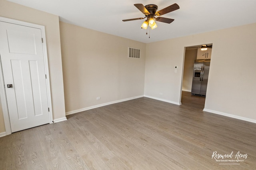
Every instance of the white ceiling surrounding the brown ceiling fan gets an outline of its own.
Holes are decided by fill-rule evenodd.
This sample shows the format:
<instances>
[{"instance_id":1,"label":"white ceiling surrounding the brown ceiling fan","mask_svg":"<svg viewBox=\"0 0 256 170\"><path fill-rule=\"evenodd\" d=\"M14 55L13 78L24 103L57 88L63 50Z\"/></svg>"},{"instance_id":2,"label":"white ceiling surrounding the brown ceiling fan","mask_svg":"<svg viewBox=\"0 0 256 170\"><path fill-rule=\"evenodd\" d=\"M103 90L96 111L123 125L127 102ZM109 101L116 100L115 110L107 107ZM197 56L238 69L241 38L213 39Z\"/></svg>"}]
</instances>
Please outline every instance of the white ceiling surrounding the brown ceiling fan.
<instances>
[{"instance_id":1,"label":"white ceiling surrounding the brown ceiling fan","mask_svg":"<svg viewBox=\"0 0 256 170\"><path fill-rule=\"evenodd\" d=\"M144 43L256 23L256 0L9 1L58 15L63 22ZM158 27L150 30L150 38L146 30L140 28L144 20L122 21L144 17L133 4L156 4L161 10L174 3L180 9L162 16L174 21L170 24L157 22Z\"/></svg>"}]
</instances>

